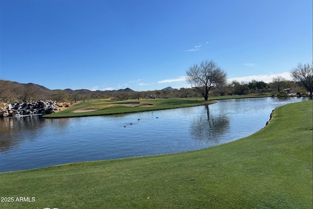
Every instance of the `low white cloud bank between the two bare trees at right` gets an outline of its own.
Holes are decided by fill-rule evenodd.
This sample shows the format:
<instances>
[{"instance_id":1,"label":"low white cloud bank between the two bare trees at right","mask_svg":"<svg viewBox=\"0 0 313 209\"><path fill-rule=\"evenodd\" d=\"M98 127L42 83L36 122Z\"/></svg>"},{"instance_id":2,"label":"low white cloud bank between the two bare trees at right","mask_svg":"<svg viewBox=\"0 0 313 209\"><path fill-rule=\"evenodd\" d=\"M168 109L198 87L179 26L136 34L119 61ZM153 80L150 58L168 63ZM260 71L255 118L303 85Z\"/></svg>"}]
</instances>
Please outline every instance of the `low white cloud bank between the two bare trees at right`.
<instances>
[{"instance_id":1,"label":"low white cloud bank between the two bare trees at right","mask_svg":"<svg viewBox=\"0 0 313 209\"><path fill-rule=\"evenodd\" d=\"M249 76L244 76L244 77L229 78L227 79L227 81L230 83L234 80L238 82L250 82L252 80L256 80L256 81L264 81L265 83L270 83L273 81L273 78L277 76L282 76L286 80L292 80L292 77L289 72L282 72L282 73L271 74L271 75L249 75Z\"/></svg>"}]
</instances>

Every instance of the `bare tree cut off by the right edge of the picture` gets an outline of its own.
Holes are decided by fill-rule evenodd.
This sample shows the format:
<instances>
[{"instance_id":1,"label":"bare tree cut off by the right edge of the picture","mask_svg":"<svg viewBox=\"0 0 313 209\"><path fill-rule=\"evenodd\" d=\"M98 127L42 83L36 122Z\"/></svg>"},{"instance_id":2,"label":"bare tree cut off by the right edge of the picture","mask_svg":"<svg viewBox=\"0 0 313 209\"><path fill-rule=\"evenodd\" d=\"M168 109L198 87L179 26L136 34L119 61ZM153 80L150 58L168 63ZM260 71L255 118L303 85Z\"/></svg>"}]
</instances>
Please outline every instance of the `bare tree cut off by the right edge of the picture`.
<instances>
[{"instance_id":1,"label":"bare tree cut off by the right edge of the picture","mask_svg":"<svg viewBox=\"0 0 313 209\"><path fill-rule=\"evenodd\" d=\"M297 82L300 86L304 87L308 92L310 92L310 96L312 96L313 92L313 63L298 64L296 68L291 70L291 76L293 80Z\"/></svg>"}]
</instances>

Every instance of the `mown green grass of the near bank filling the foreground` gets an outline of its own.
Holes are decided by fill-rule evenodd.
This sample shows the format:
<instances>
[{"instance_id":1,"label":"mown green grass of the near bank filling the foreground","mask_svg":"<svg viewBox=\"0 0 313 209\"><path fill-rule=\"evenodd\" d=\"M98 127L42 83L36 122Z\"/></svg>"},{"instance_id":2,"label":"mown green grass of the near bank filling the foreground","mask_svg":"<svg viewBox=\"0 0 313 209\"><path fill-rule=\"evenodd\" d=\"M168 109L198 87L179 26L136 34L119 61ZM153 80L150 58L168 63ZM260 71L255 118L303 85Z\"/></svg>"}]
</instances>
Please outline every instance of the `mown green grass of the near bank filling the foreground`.
<instances>
[{"instance_id":1,"label":"mown green grass of the near bank filling the foreground","mask_svg":"<svg viewBox=\"0 0 313 209\"><path fill-rule=\"evenodd\" d=\"M255 134L202 150L1 173L1 197L36 201L0 208L312 209L312 106L279 107Z\"/></svg>"}]
</instances>

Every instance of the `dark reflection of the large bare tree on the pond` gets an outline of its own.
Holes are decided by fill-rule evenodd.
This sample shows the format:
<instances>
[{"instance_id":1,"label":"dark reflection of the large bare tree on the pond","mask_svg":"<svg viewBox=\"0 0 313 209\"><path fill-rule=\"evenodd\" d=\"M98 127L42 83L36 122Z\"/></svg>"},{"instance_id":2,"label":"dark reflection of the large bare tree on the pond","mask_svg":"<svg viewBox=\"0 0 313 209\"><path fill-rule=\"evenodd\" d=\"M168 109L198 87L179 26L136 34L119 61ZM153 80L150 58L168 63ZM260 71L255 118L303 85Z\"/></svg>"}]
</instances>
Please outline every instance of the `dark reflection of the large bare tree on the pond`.
<instances>
[{"instance_id":1,"label":"dark reflection of the large bare tree on the pond","mask_svg":"<svg viewBox=\"0 0 313 209\"><path fill-rule=\"evenodd\" d=\"M205 114L201 114L191 123L190 133L196 140L216 141L229 128L227 115L210 116L209 105L203 106Z\"/></svg>"}]
</instances>

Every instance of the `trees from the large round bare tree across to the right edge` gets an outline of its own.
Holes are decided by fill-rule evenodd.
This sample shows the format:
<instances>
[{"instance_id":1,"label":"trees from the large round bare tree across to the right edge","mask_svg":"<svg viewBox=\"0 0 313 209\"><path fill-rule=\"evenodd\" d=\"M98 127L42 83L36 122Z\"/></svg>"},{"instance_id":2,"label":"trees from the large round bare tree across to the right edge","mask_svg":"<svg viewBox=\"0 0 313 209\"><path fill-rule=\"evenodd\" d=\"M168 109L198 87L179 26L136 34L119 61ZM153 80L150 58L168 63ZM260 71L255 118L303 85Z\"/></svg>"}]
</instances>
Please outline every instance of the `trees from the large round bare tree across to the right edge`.
<instances>
[{"instance_id":1,"label":"trees from the large round bare tree across to the right edge","mask_svg":"<svg viewBox=\"0 0 313 209\"><path fill-rule=\"evenodd\" d=\"M226 72L212 60L194 64L186 71L186 75L187 82L201 93L204 100L208 99L210 90L216 95L272 93L278 96L287 95L290 89L299 95L309 92L310 96L313 91L313 64L298 64L293 68L291 70L293 81L286 81L283 77L277 76L269 84L256 80L249 83L232 81L231 84L227 84Z\"/></svg>"}]
</instances>

